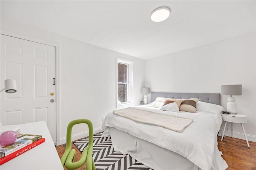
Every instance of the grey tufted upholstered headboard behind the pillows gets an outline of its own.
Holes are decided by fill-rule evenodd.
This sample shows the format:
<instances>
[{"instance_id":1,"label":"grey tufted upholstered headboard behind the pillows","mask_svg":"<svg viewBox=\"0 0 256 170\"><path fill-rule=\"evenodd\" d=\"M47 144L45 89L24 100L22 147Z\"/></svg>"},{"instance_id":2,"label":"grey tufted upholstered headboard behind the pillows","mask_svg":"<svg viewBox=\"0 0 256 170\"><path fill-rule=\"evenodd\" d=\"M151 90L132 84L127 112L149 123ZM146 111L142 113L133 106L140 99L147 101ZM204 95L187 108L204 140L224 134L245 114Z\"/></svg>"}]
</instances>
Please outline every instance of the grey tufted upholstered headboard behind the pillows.
<instances>
[{"instance_id":1,"label":"grey tufted upholstered headboard behind the pillows","mask_svg":"<svg viewBox=\"0 0 256 170\"><path fill-rule=\"evenodd\" d=\"M151 102L156 100L156 97L168 97L172 99L190 99L198 98L200 101L206 103L213 103L220 105L220 93L165 93L165 92L151 92Z\"/></svg>"}]
</instances>

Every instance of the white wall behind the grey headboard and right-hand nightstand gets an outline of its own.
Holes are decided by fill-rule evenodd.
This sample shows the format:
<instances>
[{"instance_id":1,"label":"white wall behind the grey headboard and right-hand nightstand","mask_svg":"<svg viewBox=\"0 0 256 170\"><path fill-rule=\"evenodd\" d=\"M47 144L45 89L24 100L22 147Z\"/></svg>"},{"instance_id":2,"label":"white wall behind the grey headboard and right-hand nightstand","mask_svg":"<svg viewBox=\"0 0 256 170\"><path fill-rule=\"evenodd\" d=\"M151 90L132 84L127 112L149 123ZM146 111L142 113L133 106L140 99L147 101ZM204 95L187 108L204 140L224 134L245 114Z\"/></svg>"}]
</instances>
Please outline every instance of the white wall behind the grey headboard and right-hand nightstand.
<instances>
[{"instance_id":1,"label":"white wall behind the grey headboard and right-hand nightstand","mask_svg":"<svg viewBox=\"0 0 256 170\"><path fill-rule=\"evenodd\" d=\"M171 47L170 47L171 48ZM155 92L220 93L220 85L242 84L238 113L247 115L248 140L256 141L256 39L252 34L145 61L145 86ZM221 97L226 109L228 96ZM230 135L231 123L228 123ZM222 125L223 129L223 125ZM244 139L239 124L234 137Z\"/></svg>"}]
</instances>

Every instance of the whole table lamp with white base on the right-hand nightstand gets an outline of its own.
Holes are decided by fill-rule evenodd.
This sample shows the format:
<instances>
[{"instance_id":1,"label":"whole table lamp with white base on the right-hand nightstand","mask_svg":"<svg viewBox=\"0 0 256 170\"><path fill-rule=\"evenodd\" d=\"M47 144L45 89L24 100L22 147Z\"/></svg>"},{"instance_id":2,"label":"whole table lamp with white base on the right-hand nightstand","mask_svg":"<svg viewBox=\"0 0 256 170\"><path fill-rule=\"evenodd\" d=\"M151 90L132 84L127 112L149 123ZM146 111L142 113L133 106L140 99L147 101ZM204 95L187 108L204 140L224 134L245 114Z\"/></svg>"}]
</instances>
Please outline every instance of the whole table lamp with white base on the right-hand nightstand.
<instances>
[{"instance_id":1,"label":"whole table lamp with white base on the right-hand nightstand","mask_svg":"<svg viewBox=\"0 0 256 170\"><path fill-rule=\"evenodd\" d=\"M236 99L233 95L242 95L242 85L221 85L221 95L230 95L228 97L227 111L236 114Z\"/></svg>"}]
</instances>

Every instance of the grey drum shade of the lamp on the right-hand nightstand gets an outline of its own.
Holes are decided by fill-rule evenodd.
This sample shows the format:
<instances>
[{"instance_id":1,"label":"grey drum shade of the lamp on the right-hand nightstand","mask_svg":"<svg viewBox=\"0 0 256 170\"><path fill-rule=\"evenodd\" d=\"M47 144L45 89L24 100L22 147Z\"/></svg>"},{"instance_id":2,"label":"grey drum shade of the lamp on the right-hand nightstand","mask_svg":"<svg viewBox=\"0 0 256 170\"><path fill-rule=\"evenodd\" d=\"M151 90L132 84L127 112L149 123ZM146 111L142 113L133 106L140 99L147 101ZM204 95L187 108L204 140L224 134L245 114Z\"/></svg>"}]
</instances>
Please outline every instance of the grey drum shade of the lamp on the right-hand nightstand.
<instances>
[{"instance_id":1,"label":"grey drum shade of the lamp on the right-hand nightstand","mask_svg":"<svg viewBox=\"0 0 256 170\"><path fill-rule=\"evenodd\" d=\"M221 85L220 91L222 95L242 95L242 85Z\"/></svg>"}]
</instances>

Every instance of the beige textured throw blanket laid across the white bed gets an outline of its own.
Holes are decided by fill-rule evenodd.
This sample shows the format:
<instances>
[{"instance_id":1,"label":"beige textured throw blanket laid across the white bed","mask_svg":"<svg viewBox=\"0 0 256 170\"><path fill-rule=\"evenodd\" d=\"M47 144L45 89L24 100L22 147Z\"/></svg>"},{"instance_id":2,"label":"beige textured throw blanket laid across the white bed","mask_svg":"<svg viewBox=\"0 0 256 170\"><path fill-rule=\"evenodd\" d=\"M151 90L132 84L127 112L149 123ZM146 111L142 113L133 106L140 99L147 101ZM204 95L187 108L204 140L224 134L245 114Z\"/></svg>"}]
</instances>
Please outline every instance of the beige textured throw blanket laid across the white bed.
<instances>
[{"instance_id":1,"label":"beige textured throw blanket laid across the white bed","mask_svg":"<svg viewBox=\"0 0 256 170\"><path fill-rule=\"evenodd\" d=\"M165 115L132 107L115 110L113 113L114 115L122 116L136 122L156 125L180 133L193 121L191 118Z\"/></svg>"}]
</instances>

